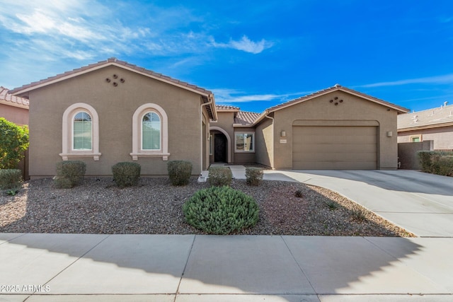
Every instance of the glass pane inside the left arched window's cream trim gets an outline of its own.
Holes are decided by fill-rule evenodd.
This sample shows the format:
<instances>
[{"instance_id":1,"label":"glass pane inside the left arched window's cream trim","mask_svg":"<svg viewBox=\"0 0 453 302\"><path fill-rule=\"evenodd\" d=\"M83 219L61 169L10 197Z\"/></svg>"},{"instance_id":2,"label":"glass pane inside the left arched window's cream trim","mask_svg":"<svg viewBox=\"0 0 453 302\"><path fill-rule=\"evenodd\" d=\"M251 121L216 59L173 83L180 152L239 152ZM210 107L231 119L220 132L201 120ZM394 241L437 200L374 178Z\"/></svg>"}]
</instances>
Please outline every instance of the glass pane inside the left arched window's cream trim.
<instances>
[{"instance_id":1,"label":"glass pane inside the left arched window's cream trim","mask_svg":"<svg viewBox=\"0 0 453 302\"><path fill-rule=\"evenodd\" d=\"M74 115L72 149L91 150L92 133L91 116L87 112L78 112Z\"/></svg>"}]
</instances>

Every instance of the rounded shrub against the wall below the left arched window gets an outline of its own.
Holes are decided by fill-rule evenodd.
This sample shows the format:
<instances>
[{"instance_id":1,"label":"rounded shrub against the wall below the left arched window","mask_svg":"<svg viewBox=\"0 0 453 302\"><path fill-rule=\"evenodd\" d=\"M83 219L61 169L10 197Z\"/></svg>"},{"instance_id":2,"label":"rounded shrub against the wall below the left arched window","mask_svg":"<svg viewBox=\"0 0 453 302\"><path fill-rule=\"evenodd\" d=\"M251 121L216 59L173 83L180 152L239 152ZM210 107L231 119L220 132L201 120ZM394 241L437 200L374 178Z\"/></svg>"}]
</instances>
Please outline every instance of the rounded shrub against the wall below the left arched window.
<instances>
[{"instance_id":1,"label":"rounded shrub against the wall below the left arched window","mask_svg":"<svg viewBox=\"0 0 453 302\"><path fill-rule=\"evenodd\" d=\"M86 163L83 161L60 161L57 163L57 176L54 183L59 188L70 188L84 180Z\"/></svg>"}]
</instances>

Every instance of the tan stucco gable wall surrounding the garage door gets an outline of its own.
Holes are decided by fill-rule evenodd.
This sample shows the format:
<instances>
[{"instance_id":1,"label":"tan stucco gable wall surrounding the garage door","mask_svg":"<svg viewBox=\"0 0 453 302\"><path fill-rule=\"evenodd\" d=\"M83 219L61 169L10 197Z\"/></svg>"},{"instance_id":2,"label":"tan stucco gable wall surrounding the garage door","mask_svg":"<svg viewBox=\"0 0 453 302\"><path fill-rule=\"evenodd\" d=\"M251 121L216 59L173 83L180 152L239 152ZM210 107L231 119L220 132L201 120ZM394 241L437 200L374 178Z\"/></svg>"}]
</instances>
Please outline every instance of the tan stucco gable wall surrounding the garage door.
<instances>
[{"instance_id":1,"label":"tan stucco gable wall surrounding the garage door","mask_svg":"<svg viewBox=\"0 0 453 302\"><path fill-rule=\"evenodd\" d=\"M343 103L334 105L329 100L338 97ZM380 169L397 168L397 143L396 143L396 116L397 112L384 105L364 100L358 96L343 91L333 91L311 100L289 106L274 112L274 163L273 168L292 168L292 126L301 121L330 121L329 125L344 125L345 121L374 121L379 124L378 128L378 150L377 167ZM266 122L266 121L263 121ZM286 144L280 144L280 133L286 132ZM386 133L392 132L392 137ZM264 137L265 144L272 144L271 138ZM261 159L260 159L261 161Z\"/></svg>"}]
</instances>

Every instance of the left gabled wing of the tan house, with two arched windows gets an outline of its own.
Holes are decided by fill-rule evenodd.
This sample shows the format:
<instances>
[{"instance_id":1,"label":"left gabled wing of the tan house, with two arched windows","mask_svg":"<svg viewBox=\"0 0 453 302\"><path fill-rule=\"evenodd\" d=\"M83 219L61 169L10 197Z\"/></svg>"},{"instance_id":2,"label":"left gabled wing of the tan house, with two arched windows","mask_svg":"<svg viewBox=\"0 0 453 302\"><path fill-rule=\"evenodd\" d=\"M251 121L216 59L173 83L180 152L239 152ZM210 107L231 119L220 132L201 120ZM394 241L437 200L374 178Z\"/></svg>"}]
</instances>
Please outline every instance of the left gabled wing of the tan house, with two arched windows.
<instances>
[{"instance_id":1,"label":"left gabled wing of the tan house, with two arched windows","mask_svg":"<svg viewBox=\"0 0 453 302\"><path fill-rule=\"evenodd\" d=\"M142 175L166 175L167 161L209 165L214 95L110 58L10 91L30 100L31 178L55 175L59 161L86 162L86 175L111 175L137 161Z\"/></svg>"}]
</instances>

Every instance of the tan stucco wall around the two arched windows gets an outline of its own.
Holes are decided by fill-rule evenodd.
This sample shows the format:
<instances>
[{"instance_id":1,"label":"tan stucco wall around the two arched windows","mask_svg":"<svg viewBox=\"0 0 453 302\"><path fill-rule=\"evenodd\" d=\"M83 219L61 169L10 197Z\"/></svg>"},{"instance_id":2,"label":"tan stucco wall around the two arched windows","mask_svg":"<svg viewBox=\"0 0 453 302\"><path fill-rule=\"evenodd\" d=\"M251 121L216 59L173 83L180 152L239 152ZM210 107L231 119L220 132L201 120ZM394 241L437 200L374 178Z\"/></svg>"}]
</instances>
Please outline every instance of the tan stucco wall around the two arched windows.
<instances>
[{"instance_id":1,"label":"tan stucco wall around the two arched windows","mask_svg":"<svg viewBox=\"0 0 453 302\"><path fill-rule=\"evenodd\" d=\"M115 87L107 83L117 74ZM111 175L111 166L132 161L132 115L140 105L154 103L168 115L168 161L193 163L200 173L200 95L132 71L108 66L30 92L30 176L55 175L62 161L62 115L74 103L87 103L99 115L99 161L69 158L87 163L86 175ZM142 175L166 175L167 161L139 157Z\"/></svg>"}]
</instances>

